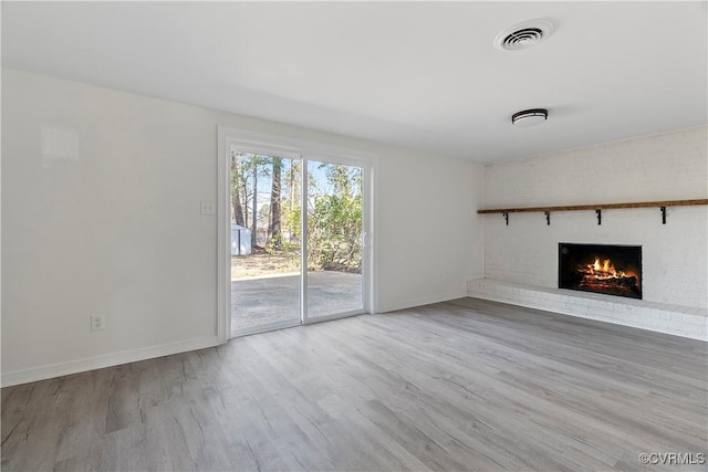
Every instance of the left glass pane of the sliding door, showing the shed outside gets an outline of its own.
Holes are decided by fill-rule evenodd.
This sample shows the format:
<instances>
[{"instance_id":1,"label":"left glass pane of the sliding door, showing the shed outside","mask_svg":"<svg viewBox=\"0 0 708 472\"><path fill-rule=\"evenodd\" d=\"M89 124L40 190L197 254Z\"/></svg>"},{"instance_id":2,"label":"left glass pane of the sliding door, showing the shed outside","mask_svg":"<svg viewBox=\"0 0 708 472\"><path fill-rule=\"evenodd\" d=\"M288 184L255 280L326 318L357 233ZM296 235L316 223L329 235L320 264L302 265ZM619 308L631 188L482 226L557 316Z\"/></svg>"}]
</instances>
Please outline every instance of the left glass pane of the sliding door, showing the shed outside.
<instances>
[{"instance_id":1,"label":"left glass pane of the sliding door, showing the shed outside","mask_svg":"<svg viewBox=\"0 0 708 472\"><path fill-rule=\"evenodd\" d=\"M231 150L232 336L301 323L301 169Z\"/></svg>"}]
</instances>

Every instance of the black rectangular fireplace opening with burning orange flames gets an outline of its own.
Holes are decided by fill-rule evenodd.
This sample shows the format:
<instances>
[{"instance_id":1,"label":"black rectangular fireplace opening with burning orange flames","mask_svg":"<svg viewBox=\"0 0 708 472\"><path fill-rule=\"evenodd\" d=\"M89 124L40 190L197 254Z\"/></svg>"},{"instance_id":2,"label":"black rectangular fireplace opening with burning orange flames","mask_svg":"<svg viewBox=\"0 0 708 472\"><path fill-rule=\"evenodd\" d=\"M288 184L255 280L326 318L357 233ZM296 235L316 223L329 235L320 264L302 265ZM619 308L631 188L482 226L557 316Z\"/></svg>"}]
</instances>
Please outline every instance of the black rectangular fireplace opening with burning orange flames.
<instances>
[{"instance_id":1,"label":"black rectangular fireplace opening with burning orange flames","mask_svg":"<svg viewBox=\"0 0 708 472\"><path fill-rule=\"evenodd\" d=\"M558 286L642 298L642 247L561 242Z\"/></svg>"}]
</instances>

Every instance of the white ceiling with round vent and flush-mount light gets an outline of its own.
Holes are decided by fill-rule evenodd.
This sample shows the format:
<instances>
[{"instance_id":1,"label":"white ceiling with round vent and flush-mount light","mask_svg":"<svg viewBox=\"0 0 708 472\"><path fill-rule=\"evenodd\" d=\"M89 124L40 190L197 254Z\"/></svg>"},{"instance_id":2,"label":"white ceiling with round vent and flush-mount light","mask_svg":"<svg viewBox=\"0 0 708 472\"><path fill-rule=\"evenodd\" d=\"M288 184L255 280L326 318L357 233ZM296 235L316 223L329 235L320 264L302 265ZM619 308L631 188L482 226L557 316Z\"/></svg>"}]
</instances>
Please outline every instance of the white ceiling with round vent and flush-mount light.
<instances>
[{"instance_id":1,"label":"white ceiling with round vent and flush-mount light","mask_svg":"<svg viewBox=\"0 0 708 472\"><path fill-rule=\"evenodd\" d=\"M2 64L490 162L706 125L707 4L2 1Z\"/></svg>"}]
</instances>

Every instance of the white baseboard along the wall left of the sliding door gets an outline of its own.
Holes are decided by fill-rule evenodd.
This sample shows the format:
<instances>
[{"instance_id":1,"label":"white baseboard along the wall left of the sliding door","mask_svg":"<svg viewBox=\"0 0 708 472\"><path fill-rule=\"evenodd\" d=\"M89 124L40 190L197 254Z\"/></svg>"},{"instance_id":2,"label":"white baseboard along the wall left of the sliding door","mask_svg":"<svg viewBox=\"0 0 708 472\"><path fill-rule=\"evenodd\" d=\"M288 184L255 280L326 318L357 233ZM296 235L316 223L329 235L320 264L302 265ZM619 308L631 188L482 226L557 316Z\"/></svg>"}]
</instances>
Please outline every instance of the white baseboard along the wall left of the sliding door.
<instances>
[{"instance_id":1,"label":"white baseboard along the wall left of the sliding door","mask_svg":"<svg viewBox=\"0 0 708 472\"><path fill-rule=\"evenodd\" d=\"M204 349L206 347L218 346L219 344L220 343L217 336L212 336L201 339L190 339L123 353L108 354L105 356L90 357L86 359L71 360L69 363L53 364L25 370L2 373L0 386L10 387L13 385L27 384L30 381L45 380L49 378L61 377L70 374L84 373L87 370L117 366L121 364L135 363L138 360L146 360L155 357L169 356L171 354L186 353L188 350Z\"/></svg>"}]
</instances>

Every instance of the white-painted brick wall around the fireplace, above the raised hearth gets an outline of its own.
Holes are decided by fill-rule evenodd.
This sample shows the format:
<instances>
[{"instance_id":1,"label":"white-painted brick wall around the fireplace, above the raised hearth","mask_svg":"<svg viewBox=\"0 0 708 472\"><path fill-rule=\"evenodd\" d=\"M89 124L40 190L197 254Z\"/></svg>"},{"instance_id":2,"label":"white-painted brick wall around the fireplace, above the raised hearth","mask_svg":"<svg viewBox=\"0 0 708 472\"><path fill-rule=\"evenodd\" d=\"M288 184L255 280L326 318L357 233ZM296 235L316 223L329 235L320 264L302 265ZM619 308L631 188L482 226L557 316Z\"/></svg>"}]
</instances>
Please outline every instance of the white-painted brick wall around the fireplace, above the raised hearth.
<instances>
[{"instance_id":1,"label":"white-painted brick wall around the fireplace, above the raised hearth","mask_svg":"<svg viewBox=\"0 0 708 472\"><path fill-rule=\"evenodd\" d=\"M485 170L485 207L621 203L708 198L707 128L611 143ZM708 208L658 208L488 214L485 276L558 286L558 243L643 245L644 300L705 308L708 304Z\"/></svg>"}]
</instances>

